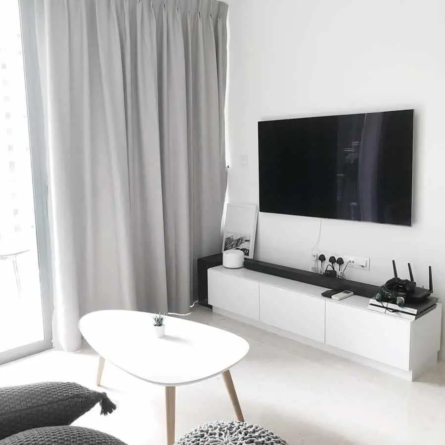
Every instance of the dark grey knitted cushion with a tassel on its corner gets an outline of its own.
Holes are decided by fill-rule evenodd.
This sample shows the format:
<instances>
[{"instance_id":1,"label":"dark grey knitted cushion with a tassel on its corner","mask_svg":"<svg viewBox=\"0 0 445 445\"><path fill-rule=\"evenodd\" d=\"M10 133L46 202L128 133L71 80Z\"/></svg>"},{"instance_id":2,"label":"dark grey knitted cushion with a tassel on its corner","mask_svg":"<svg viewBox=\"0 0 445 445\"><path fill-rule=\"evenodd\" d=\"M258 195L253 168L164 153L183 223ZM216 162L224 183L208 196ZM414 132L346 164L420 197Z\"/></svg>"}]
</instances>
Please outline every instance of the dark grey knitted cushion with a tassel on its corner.
<instances>
[{"instance_id":1,"label":"dark grey knitted cushion with a tassel on its corner","mask_svg":"<svg viewBox=\"0 0 445 445\"><path fill-rule=\"evenodd\" d=\"M105 393L77 383L37 383L0 388L0 439L44 426L69 425L100 402L102 414L116 405Z\"/></svg>"}]
</instances>

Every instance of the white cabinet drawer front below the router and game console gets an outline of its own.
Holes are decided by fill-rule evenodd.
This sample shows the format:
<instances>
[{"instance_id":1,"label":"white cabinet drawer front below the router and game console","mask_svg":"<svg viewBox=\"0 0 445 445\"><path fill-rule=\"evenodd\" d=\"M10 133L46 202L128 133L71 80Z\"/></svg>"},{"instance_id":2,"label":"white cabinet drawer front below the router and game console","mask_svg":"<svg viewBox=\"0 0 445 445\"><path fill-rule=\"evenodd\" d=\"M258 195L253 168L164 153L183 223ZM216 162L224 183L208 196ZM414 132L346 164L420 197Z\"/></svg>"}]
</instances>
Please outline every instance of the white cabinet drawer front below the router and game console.
<instances>
[{"instance_id":1,"label":"white cabinet drawer front below the router and game console","mask_svg":"<svg viewBox=\"0 0 445 445\"><path fill-rule=\"evenodd\" d=\"M408 320L326 302L327 345L403 370L409 370L410 325Z\"/></svg>"}]
</instances>

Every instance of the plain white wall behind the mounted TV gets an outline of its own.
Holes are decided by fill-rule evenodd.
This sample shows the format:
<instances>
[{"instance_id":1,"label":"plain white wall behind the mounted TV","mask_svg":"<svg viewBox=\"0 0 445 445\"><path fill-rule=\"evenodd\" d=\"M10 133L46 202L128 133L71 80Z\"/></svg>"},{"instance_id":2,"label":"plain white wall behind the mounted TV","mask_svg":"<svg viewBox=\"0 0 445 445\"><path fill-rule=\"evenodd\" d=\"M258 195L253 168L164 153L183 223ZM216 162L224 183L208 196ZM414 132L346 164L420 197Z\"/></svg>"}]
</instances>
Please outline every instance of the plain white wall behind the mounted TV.
<instances>
[{"instance_id":1,"label":"plain white wall behind the mounted TV","mask_svg":"<svg viewBox=\"0 0 445 445\"><path fill-rule=\"evenodd\" d=\"M323 220L320 247L369 256L370 271L347 275L373 284L393 258L421 285L432 265L445 302L445 2L228 3L229 199L258 203L259 120L414 108L413 226ZM309 269L319 221L260 214L255 257Z\"/></svg>"}]
</instances>

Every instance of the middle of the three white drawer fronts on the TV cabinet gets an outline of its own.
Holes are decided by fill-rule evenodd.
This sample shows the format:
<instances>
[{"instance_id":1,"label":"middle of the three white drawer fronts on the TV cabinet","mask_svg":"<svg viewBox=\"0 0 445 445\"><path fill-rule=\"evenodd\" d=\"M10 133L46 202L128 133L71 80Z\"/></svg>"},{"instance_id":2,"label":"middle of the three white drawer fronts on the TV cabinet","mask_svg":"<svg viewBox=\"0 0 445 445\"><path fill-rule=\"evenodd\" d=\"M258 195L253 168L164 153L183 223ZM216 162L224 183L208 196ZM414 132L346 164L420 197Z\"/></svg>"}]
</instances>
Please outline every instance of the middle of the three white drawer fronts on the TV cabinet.
<instances>
[{"instance_id":1,"label":"middle of the three white drawer fronts on the TV cabinet","mask_svg":"<svg viewBox=\"0 0 445 445\"><path fill-rule=\"evenodd\" d=\"M324 343L324 312L324 300L260 284L263 323Z\"/></svg>"}]
</instances>

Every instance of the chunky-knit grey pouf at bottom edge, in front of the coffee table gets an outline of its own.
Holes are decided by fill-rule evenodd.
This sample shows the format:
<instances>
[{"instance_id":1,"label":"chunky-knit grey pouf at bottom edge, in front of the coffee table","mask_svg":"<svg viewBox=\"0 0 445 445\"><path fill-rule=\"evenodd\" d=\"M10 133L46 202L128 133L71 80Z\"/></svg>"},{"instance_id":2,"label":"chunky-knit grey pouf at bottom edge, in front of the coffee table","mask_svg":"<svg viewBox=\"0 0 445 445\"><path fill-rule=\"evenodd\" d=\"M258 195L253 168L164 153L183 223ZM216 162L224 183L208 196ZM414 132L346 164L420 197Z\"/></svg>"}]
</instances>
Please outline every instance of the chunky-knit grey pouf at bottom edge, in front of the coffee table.
<instances>
[{"instance_id":1,"label":"chunky-knit grey pouf at bottom edge, in front of the coffee table","mask_svg":"<svg viewBox=\"0 0 445 445\"><path fill-rule=\"evenodd\" d=\"M183 436L176 445L287 445L258 425L231 420L202 425Z\"/></svg>"}]
</instances>

